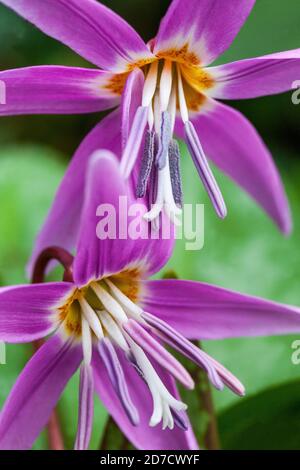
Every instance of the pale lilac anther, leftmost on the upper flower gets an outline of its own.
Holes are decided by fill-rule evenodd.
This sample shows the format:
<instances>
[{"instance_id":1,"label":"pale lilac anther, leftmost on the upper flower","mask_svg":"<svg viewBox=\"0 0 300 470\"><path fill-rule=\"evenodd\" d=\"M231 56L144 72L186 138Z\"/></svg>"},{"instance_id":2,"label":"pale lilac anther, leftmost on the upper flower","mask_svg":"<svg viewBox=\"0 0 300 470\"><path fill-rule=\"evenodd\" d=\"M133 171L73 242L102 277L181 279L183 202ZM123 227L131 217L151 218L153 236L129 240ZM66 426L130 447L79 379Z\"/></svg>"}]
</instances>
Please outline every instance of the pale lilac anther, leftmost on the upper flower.
<instances>
[{"instance_id":1,"label":"pale lilac anther, leftmost on the upper flower","mask_svg":"<svg viewBox=\"0 0 300 470\"><path fill-rule=\"evenodd\" d=\"M128 178L137 160L148 121L148 107L140 106L134 116L130 134L123 151L120 170Z\"/></svg>"}]
</instances>

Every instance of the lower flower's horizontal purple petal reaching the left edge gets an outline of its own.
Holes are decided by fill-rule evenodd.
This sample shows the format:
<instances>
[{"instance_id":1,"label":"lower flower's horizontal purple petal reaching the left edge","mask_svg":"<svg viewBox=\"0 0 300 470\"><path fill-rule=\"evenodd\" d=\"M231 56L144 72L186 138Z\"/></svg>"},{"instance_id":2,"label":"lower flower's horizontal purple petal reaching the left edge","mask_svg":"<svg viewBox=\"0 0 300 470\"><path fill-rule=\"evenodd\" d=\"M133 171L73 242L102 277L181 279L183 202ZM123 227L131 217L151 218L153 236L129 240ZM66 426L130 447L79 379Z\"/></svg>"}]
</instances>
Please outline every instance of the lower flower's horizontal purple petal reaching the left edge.
<instances>
[{"instance_id":1,"label":"lower flower's horizontal purple petal reaching the left edge","mask_svg":"<svg viewBox=\"0 0 300 470\"><path fill-rule=\"evenodd\" d=\"M57 325L56 306L72 289L67 282L0 289L0 339L26 343L47 336Z\"/></svg>"}]
</instances>

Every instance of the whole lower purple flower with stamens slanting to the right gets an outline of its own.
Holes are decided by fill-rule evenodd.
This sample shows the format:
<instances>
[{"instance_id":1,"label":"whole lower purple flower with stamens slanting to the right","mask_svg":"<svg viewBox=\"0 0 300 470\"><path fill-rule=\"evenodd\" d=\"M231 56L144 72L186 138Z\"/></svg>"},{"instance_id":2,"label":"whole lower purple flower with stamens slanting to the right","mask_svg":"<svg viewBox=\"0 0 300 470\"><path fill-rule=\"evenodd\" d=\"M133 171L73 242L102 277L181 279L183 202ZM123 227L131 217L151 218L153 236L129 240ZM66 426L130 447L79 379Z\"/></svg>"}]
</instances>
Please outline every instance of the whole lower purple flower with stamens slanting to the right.
<instances>
[{"instance_id":1,"label":"whole lower purple flower with stamens slanting to the right","mask_svg":"<svg viewBox=\"0 0 300 470\"><path fill-rule=\"evenodd\" d=\"M189 340L299 332L300 310L200 282L149 280L172 241L96 236L101 202L118 210L121 196L134 199L112 153L94 154L85 188L71 278L68 271L64 282L0 289L1 340L50 335L1 411L0 448L30 448L80 368L76 449L88 447L94 390L137 448L194 449L174 379L188 389L193 380L164 345L203 368L217 389L243 395L240 382ZM127 217L117 213L119 223ZM140 223L149 229L142 216Z\"/></svg>"}]
</instances>

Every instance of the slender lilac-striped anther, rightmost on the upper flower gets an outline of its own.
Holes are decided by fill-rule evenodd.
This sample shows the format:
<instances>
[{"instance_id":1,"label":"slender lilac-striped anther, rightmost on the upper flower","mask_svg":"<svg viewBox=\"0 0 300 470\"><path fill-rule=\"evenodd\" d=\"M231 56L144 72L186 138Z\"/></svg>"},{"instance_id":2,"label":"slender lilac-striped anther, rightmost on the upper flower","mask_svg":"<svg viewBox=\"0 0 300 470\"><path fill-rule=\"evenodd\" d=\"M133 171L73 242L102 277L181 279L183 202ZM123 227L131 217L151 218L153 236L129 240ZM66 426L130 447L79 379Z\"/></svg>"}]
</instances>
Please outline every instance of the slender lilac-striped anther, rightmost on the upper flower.
<instances>
[{"instance_id":1,"label":"slender lilac-striped anther, rightmost on the upper flower","mask_svg":"<svg viewBox=\"0 0 300 470\"><path fill-rule=\"evenodd\" d=\"M222 219L226 217L227 209L221 194L220 188L215 180L215 177L209 167L208 161L204 154L202 145L195 131L193 124L190 121L185 122L185 137L186 142L193 158L196 169L203 182L203 185L210 197L211 202L217 212L218 216Z\"/></svg>"}]
</instances>

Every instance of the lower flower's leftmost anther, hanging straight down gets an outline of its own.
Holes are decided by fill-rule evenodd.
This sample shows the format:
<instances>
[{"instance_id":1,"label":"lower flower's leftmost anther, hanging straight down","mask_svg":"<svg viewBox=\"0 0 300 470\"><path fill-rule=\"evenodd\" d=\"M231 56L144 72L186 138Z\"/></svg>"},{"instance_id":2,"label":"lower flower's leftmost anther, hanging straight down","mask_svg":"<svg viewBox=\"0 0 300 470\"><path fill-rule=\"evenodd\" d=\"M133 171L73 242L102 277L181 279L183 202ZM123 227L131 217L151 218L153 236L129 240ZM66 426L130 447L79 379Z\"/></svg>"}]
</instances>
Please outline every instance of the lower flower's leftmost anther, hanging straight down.
<instances>
[{"instance_id":1,"label":"lower flower's leftmost anther, hanging straight down","mask_svg":"<svg viewBox=\"0 0 300 470\"><path fill-rule=\"evenodd\" d=\"M90 366L82 365L80 368L78 430L75 450L86 450L90 442L94 415L93 394L92 369Z\"/></svg>"}]
</instances>

